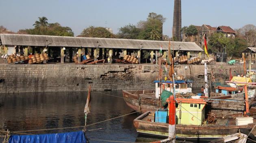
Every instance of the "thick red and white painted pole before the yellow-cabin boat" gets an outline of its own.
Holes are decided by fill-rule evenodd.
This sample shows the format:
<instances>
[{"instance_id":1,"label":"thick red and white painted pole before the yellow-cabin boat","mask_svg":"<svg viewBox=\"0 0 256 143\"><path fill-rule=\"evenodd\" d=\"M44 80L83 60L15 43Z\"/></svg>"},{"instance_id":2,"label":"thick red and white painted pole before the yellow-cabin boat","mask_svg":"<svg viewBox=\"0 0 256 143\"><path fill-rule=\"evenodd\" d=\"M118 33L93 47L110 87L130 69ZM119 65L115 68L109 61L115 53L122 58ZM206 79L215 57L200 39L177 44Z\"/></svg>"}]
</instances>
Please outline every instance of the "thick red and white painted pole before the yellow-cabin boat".
<instances>
[{"instance_id":1,"label":"thick red and white painted pole before the yellow-cabin boat","mask_svg":"<svg viewBox=\"0 0 256 143\"><path fill-rule=\"evenodd\" d=\"M174 96L169 97L169 138L172 139L172 143L175 143L175 100Z\"/></svg>"}]
</instances>

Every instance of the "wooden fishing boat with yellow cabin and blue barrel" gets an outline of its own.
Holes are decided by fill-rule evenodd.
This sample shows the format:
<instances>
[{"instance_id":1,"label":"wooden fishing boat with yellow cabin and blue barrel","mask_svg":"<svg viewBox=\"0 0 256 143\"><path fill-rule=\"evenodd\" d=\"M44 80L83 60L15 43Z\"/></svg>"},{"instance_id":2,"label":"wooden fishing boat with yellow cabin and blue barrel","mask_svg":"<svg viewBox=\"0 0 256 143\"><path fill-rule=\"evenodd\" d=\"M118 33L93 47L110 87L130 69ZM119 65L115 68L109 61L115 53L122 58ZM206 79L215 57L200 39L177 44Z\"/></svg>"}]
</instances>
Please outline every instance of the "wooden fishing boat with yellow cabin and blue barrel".
<instances>
[{"instance_id":1,"label":"wooden fishing boat with yellow cabin and blue barrel","mask_svg":"<svg viewBox=\"0 0 256 143\"><path fill-rule=\"evenodd\" d=\"M246 113L244 117L236 118L215 118L214 114L205 118L207 103L204 99L176 98L174 103L173 108L176 112L174 124L176 124L176 136L178 137L221 138L236 134L240 130L250 131L256 126L256 119L246 117ZM168 109L147 111L137 117L133 124L140 134L168 137L169 116L173 114L170 114ZM256 135L256 130L252 130L252 134Z\"/></svg>"}]
</instances>

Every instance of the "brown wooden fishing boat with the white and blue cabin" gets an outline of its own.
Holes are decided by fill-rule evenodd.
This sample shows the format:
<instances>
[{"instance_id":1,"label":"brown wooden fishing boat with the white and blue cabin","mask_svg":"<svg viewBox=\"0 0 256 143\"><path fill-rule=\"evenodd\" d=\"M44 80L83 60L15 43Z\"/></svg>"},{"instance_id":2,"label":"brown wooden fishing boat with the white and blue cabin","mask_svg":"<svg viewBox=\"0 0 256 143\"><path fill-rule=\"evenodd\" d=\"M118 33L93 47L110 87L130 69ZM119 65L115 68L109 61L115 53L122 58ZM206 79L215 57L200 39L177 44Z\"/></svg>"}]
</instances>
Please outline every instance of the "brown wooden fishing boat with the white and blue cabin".
<instances>
[{"instance_id":1,"label":"brown wooden fishing boat with the white and blue cabin","mask_svg":"<svg viewBox=\"0 0 256 143\"><path fill-rule=\"evenodd\" d=\"M161 86L159 83L159 81L155 81L155 89L123 90L124 101L135 111L141 111L142 113L145 113L146 111L155 111L161 106L159 97L161 92L163 92L163 89L173 92L173 82L162 81ZM176 80L175 86L177 97L195 95L192 93L192 82L189 80Z\"/></svg>"}]
</instances>

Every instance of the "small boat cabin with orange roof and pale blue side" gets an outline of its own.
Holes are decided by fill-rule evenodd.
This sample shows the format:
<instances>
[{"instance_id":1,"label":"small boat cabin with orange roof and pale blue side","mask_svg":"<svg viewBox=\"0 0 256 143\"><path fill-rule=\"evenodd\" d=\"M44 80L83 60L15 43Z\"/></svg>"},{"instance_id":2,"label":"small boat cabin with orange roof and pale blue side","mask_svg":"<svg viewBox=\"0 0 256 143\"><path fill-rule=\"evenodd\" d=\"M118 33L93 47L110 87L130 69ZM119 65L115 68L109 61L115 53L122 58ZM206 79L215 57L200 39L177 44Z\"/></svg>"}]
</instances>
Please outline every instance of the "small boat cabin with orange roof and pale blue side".
<instances>
[{"instance_id":1,"label":"small boat cabin with orange roof and pale blue side","mask_svg":"<svg viewBox=\"0 0 256 143\"><path fill-rule=\"evenodd\" d=\"M233 95L243 92L243 86L230 87L230 86L217 86L215 87L215 93L221 93L223 95Z\"/></svg>"}]
</instances>

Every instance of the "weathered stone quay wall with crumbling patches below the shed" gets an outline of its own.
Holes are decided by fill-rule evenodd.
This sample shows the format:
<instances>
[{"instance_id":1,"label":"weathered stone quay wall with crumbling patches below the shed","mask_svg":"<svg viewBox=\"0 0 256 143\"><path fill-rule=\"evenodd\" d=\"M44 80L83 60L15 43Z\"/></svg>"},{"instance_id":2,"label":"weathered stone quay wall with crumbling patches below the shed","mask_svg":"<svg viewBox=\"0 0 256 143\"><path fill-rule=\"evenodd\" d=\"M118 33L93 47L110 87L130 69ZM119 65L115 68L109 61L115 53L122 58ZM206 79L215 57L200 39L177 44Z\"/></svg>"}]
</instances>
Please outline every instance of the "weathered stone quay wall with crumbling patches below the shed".
<instances>
[{"instance_id":1,"label":"weathered stone quay wall with crumbling patches below the shed","mask_svg":"<svg viewBox=\"0 0 256 143\"><path fill-rule=\"evenodd\" d=\"M243 67L208 65L215 74L238 73ZM204 65L176 65L175 71L204 84ZM87 90L123 90L154 88L155 65L0 65L0 93L52 92ZM0 80L1 81L1 80Z\"/></svg>"}]
</instances>

